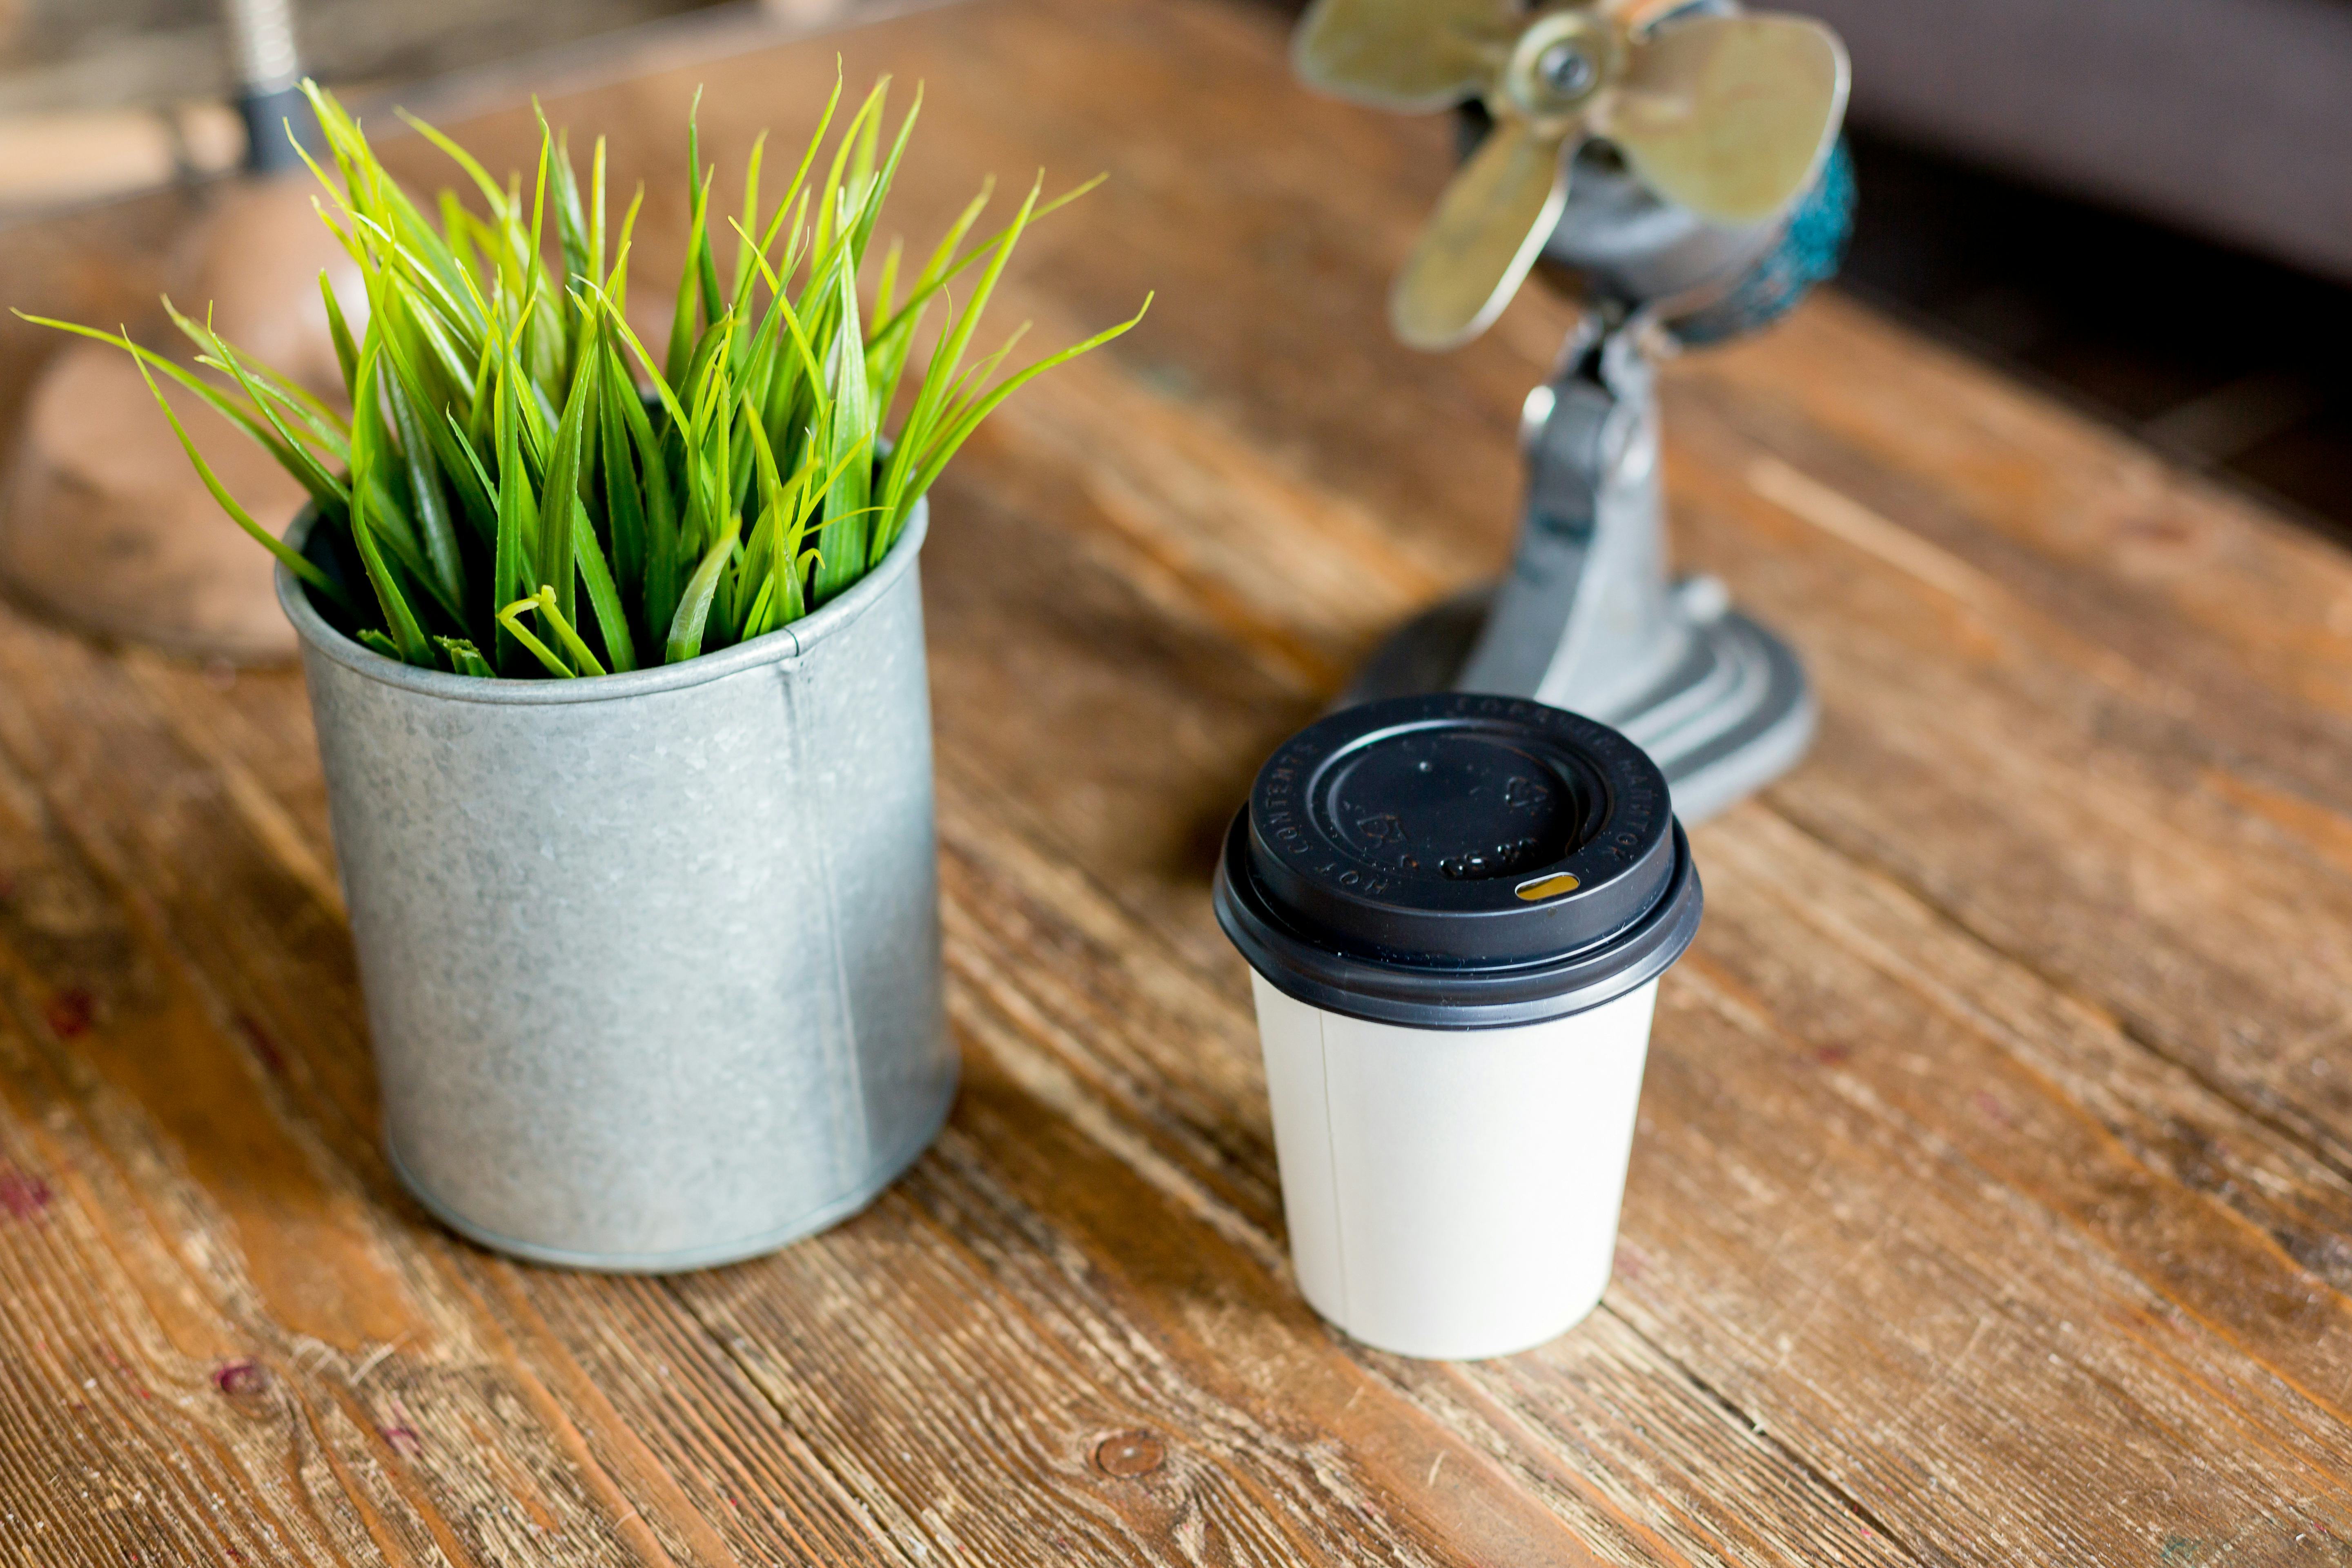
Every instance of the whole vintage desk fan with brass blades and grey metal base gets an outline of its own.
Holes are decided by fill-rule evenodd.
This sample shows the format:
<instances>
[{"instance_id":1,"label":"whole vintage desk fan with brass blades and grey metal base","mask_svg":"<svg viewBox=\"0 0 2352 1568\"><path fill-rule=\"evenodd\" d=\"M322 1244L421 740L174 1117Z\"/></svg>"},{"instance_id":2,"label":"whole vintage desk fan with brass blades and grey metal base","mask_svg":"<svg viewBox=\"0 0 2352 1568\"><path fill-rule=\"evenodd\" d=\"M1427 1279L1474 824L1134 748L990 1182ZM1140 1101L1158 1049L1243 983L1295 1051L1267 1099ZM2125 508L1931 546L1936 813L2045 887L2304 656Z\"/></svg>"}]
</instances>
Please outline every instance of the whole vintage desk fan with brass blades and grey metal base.
<instances>
[{"instance_id":1,"label":"whole vintage desk fan with brass blades and grey metal base","mask_svg":"<svg viewBox=\"0 0 2352 1568\"><path fill-rule=\"evenodd\" d=\"M1294 63L1357 103L1461 115L1463 165L1390 294L1404 343L1475 339L1538 261L1585 303L1526 400L1510 574L1399 630L1350 701L1571 708L1649 750L1684 820L1792 766L1813 733L1795 654L1715 578L1668 576L1653 360L1764 327L1837 270L1837 35L1726 0L1317 0Z\"/></svg>"}]
</instances>

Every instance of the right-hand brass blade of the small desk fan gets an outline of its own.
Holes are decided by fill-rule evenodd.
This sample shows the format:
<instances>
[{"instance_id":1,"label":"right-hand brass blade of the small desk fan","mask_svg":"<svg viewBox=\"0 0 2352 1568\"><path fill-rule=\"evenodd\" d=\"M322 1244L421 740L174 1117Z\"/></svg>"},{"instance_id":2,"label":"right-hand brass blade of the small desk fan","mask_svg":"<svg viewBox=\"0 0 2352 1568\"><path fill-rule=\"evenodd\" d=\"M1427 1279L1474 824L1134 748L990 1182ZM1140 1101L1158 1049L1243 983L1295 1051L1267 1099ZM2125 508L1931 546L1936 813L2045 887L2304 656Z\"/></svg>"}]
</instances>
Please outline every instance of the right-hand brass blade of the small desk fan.
<instances>
[{"instance_id":1,"label":"right-hand brass blade of the small desk fan","mask_svg":"<svg viewBox=\"0 0 2352 1568\"><path fill-rule=\"evenodd\" d=\"M1595 132L1658 195L1717 223L1792 202L1846 113L1846 49L1806 16L1693 16L1637 40Z\"/></svg>"}]
</instances>

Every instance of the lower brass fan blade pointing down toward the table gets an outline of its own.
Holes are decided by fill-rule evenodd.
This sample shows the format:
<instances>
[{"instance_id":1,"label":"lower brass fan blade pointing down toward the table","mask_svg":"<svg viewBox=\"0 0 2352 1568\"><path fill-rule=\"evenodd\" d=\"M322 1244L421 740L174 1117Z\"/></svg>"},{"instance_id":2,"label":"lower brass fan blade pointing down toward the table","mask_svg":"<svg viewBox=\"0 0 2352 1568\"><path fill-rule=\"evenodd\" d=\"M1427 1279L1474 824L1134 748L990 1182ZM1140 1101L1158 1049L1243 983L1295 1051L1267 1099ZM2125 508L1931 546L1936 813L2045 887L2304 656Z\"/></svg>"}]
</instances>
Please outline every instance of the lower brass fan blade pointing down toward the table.
<instances>
[{"instance_id":1,"label":"lower brass fan blade pointing down toward the table","mask_svg":"<svg viewBox=\"0 0 2352 1568\"><path fill-rule=\"evenodd\" d=\"M1446 186L1421 244L1397 273L1388 320L1399 339L1414 348L1454 348L1503 313L1559 223L1569 200L1562 148L1583 134L1573 120L1545 129L1526 120L1496 122Z\"/></svg>"}]
</instances>

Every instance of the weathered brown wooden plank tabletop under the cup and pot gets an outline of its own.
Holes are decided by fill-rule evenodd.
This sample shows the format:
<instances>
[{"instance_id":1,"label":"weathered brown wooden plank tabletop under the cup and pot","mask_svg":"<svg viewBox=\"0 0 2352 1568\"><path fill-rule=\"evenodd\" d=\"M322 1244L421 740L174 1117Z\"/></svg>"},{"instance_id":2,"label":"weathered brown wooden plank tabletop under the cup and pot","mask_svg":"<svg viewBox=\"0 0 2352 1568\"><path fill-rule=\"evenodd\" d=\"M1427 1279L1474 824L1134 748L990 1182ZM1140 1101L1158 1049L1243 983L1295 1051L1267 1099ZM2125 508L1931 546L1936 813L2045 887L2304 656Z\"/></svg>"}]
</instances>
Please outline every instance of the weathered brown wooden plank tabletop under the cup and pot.
<instances>
[{"instance_id":1,"label":"weathered brown wooden plank tabletop under the cup and pot","mask_svg":"<svg viewBox=\"0 0 2352 1568\"><path fill-rule=\"evenodd\" d=\"M1677 364L1679 555L1804 649L1820 741L1696 835L1604 1307L1367 1352L1291 1291L1211 844L1498 569L1569 313L1395 348L1444 125L1305 96L1221 0L974 0L550 113L666 197L696 82L731 169L835 49L929 80L915 235L1110 169L1007 320L1160 289L936 496L953 1124L753 1265L454 1241L376 1145L299 679L5 614L0 1561L2352 1561L2352 562L1835 296ZM113 310L172 216L0 235L9 303ZM0 336L0 411L45 348Z\"/></svg>"}]
</instances>

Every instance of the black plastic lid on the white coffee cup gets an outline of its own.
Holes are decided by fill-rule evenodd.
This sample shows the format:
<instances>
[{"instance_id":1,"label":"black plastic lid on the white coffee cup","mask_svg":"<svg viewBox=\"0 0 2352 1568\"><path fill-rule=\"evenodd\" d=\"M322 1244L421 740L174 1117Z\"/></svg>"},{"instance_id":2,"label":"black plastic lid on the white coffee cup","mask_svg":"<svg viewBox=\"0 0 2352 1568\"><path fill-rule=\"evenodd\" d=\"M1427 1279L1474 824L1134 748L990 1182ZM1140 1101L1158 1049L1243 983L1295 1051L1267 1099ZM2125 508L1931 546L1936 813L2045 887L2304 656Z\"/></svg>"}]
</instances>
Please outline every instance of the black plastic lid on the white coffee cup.
<instances>
[{"instance_id":1,"label":"black plastic lid on the white coffee cup","mask_svg":"<svg viewBox=\"0 0 2352 1568\"><path fill-rule=\"evenodd\" d=\"M1665 776L1505 696L1367 703L1298 731L1225 835L1216 919L1277 990L1423 1030L1581 1013L1698 933Z\"/></svg>"}]
</instances>

